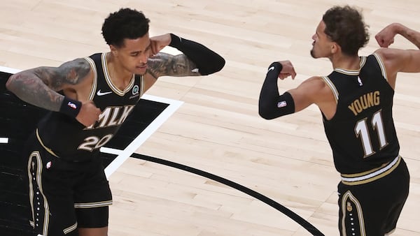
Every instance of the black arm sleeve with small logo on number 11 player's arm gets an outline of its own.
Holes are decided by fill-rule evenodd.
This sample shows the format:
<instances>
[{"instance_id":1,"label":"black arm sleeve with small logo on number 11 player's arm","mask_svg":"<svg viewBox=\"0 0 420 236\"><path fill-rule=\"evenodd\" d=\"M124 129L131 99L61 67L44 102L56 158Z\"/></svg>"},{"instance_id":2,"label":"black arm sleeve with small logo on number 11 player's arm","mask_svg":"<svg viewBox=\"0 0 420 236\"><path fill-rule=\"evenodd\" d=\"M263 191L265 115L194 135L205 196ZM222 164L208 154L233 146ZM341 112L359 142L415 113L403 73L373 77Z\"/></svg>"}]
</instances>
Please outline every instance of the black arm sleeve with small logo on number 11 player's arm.
<instances>
[{"instance_id":1,"label":"black arm sleeve with small logo on number 11 player's arm","mask_svg":"<svg viewBox=\"0 0 420 236\"><path fill-rule=\"evenodd\" d=\"M258 112L264 119L274 119L295 112L293 97L287 91L279 95L277 78L282 68L279 62L273 62L262 84Z\"/></svg>"}]
</instances>

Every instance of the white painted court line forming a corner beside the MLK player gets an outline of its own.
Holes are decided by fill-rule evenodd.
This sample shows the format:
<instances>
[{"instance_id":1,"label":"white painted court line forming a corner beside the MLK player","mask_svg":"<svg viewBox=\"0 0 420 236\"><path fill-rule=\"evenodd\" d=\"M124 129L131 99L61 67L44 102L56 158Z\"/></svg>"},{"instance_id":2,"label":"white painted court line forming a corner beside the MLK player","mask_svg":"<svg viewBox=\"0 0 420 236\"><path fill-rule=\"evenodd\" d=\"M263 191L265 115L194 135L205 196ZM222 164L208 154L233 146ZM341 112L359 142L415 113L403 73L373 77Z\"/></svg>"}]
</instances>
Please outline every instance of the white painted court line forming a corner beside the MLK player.
<instances>
[{"instance_id":1,"label":"white painted court line forming a corner beside the MLK player","mask_svg":"<svg viewBox=\"0 0 420 236\"><path fill-rule=\"evenodd\" d=\"M102 147L101 152L106 152L110 154L117 154L118 156L105 168L105 174L106 177L109 178L113 172L116 172L116 170L124 163L127 158L129 158L136 150L142 145L153 133L155 133L158 128L167 121L167 119L174 114L176 110L178 110L179 107L183 104L183 101L178 100L172 100L169 98L160 98L158 96L150 96L147 94L144 94L141 98L151 100L151 101L157 101L160 103L167 103L169 106L163 110L156 119L153 120L151 124L149 124L144 131L142 131L137 138L135 138L130 145L125 147L124 150L118 150L118 149L111 149Z\"/></svg>"}]
</instances>

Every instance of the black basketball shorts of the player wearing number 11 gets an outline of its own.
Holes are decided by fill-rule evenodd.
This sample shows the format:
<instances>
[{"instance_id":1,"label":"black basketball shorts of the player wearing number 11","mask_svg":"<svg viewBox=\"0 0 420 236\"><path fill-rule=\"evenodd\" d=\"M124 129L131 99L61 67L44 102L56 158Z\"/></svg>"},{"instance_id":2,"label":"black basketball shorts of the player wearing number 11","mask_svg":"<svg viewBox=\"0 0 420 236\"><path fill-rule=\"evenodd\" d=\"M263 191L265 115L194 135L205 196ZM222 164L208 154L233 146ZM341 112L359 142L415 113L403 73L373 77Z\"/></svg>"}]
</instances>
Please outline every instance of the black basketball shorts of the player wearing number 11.
<instances>
[{"instance_id":1,"label":"black basketball shorts of the player wearing number 11","mask_svg":"<svg viewBox=\"0 0 420 236\"><path fill-rule=\"evenodd\" d=\"M395 230L408 197L409 172L400 156L384 168L338 184L340 235L388 235Z\"/></svg>"}]
</instances>

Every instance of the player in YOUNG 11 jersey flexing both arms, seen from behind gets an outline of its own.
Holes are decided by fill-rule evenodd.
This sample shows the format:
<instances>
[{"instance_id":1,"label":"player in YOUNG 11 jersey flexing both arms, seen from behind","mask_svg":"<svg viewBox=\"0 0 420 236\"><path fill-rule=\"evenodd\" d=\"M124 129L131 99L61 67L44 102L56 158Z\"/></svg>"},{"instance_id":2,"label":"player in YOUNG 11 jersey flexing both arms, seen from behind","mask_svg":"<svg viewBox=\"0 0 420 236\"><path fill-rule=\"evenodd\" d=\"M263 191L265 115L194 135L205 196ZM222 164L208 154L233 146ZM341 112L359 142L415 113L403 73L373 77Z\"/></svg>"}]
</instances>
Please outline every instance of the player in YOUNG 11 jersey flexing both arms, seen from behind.
<instances>
[{"instance_id":1,"label":"player in YOUNG 11 jersey flexing both arms, seen from behind","mask_svg":"<svg viewBox=\"0 0 420 236\"><path fill-rule=\"evenodd\" d=\"M420 34L400 24L379 32L379 45L387 47L397 33L420 45ZM260 92L260 116L274 119L318 105L342 177L340 235L388 235L409 191L392 117L395 80L398 72L420 72L420 50L380 48L358 56L369 34L360 12L350 6L327 10L312 39L311 56L330 59L332 73L311 77L280 95L277 78L295 78L296 73L290 61L272 63Z\"/></svg>"}]
</instances>

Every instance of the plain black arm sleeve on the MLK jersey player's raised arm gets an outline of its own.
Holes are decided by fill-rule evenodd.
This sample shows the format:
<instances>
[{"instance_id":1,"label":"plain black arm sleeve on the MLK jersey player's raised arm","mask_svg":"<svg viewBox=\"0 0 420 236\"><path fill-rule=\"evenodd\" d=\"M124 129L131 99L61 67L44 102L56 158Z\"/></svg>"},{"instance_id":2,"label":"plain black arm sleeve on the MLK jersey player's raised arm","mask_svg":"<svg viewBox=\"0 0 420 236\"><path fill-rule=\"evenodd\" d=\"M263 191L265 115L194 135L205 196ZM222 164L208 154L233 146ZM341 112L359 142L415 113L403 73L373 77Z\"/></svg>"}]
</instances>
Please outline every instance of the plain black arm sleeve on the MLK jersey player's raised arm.
<instances>
[{"instance_id":1,"label":"plain black arm sleeve on the MLK jersey player's raised arm","mask_svg":"<svg viewBox=\"0 0 420 236\"><path fill-rule=\"evenodd\" d=\"M225 59L206 46L171 34L171 47L175 47L195 63L200 75L209 75L221 71Z\"/></svg>"}]
</instances>

